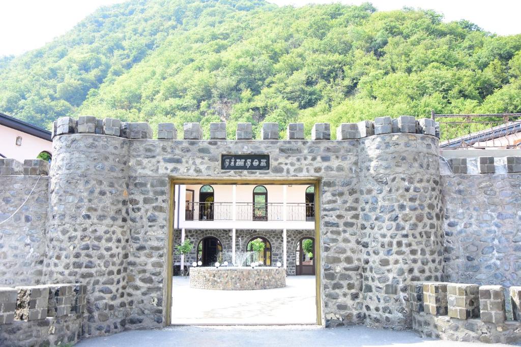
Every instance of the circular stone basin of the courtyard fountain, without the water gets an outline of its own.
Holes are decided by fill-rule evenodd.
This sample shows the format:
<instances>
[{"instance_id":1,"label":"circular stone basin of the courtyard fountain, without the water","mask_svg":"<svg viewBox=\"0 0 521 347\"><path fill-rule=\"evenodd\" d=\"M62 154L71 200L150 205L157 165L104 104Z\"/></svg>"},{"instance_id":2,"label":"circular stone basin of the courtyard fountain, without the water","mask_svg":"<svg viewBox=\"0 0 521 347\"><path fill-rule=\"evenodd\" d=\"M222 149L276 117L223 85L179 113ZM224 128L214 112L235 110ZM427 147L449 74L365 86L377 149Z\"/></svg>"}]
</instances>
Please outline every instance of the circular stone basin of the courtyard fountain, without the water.
<instances>
[{"instance_id":1,"label":"circular stone basin of the courtyard fountain, without the water","mask_svg":"<svg viewBox=\"0 0 521 347\"><path fill-rule=\"evenodd\" d=\"M286 287L286 269L279 267L191 267L190 287L254 290Z\"/></svg>"}]
</instances>

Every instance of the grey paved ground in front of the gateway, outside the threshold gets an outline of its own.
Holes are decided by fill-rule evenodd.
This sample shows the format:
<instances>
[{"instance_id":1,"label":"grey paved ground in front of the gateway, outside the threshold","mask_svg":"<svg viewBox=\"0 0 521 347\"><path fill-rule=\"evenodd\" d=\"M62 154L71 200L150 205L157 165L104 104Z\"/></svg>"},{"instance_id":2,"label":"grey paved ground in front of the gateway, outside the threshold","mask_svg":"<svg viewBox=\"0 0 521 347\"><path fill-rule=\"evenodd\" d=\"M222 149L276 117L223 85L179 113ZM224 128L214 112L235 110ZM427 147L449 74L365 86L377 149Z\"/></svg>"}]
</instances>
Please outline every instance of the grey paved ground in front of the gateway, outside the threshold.
<instances>
[{"instance_id":1,"label":"grey paved ground in front of the gateway, outside the threshold","mask_svg":"<svg viewBox=\"0 0 521 347\"><path fill-rule=\"evenodd\" d=\"M317 326L285 327L169 327L164 330L126 331L81 341L79 347L162 346L390 346L460 347L507 346L424 339L412 331L375 330L363 326L322 329Z\"/></svg>"}]
</instances>

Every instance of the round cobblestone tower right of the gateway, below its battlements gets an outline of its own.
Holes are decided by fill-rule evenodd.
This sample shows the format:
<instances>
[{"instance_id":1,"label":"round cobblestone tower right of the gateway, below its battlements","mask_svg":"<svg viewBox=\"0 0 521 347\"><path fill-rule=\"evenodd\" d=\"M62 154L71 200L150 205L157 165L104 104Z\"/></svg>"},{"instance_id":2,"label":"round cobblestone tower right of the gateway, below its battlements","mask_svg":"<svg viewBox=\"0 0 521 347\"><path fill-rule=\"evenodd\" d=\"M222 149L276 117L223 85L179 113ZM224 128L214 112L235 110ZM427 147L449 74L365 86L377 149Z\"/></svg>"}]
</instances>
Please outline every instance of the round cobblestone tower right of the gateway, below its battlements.
<instances>
[{"instance_id":1,"label":"round cobblestone tower right of the gateway, below its battlements","mask_svg":"<svg viewBox=\"0 0 521 347\"><path fill-rule=\"evenodd\" d=\"M364 317L401 330L409 282L442 279L439 140L398 133L359 141Z\"/></svg>"}]
</instances>

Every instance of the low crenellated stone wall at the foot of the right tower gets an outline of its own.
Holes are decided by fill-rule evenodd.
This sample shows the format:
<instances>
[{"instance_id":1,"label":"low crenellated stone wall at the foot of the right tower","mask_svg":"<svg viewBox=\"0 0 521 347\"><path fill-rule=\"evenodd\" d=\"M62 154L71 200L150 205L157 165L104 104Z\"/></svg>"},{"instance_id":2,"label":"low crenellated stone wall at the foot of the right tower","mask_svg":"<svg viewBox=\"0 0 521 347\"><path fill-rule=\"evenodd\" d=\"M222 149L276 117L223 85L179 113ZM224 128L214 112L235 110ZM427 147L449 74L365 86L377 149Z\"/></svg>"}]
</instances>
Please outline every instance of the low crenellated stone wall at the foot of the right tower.
<instances>
[{"instance_id":1,"label":"low crenellated stone wall at the foot of the right tower","mask_svg":"<svg viewBox=\"0 0 521 347\"><path fill-rule=\"evenodd\" d=\"M513 319L507 319L505 292ZM521 287L450 282L411 282L408 287L413 329L442 340L511 343L521 338Z\"/></svg>"}]
</instances>

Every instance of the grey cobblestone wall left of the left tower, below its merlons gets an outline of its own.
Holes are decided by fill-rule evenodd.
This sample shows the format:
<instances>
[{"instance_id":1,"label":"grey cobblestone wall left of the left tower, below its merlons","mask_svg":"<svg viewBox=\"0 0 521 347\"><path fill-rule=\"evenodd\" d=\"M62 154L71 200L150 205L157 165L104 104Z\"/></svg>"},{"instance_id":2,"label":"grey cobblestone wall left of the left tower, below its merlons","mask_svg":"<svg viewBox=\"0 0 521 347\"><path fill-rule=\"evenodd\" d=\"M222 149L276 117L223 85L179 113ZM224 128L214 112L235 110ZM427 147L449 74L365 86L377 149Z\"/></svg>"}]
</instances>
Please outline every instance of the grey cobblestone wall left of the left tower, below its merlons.
<instances>
[{"instance_id":1,"label":"grey cobblestone wall left of the left tower, below its merlons","mask_svg":"<svg viewBox=\"0 0 521 347\"><path fill-rule=\"evenodd\" d=\"M0 286L42 282L48 183L48 176L0 176Z\"/></svg>"}]
</instances>

